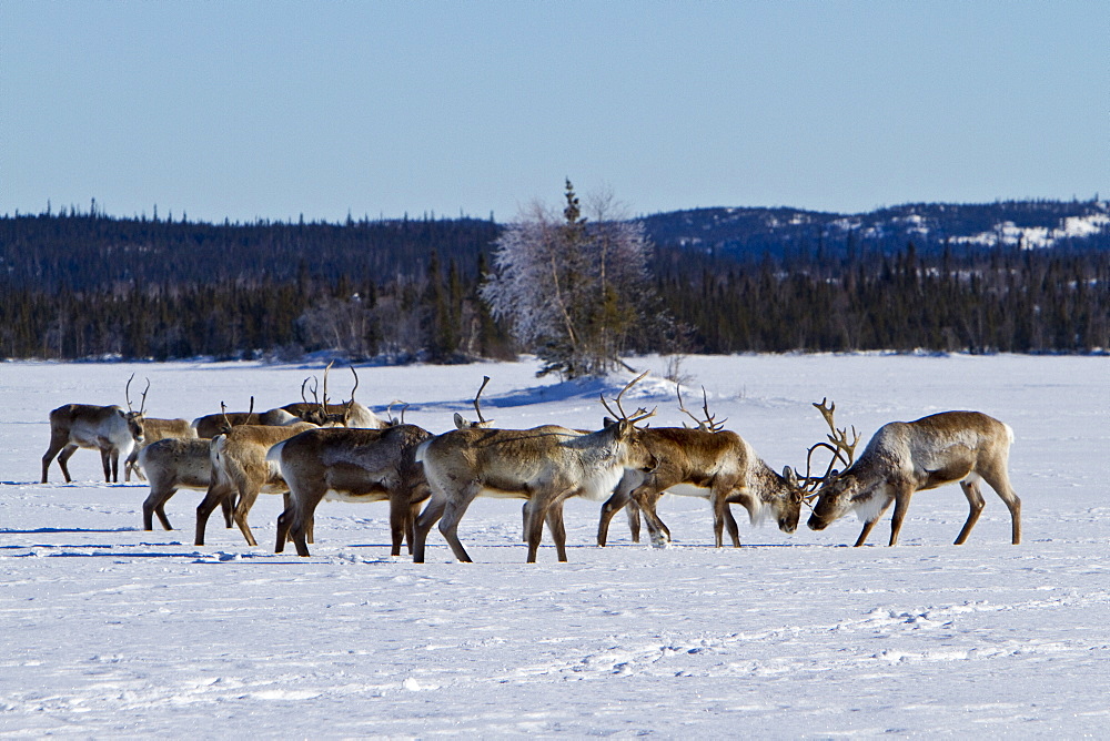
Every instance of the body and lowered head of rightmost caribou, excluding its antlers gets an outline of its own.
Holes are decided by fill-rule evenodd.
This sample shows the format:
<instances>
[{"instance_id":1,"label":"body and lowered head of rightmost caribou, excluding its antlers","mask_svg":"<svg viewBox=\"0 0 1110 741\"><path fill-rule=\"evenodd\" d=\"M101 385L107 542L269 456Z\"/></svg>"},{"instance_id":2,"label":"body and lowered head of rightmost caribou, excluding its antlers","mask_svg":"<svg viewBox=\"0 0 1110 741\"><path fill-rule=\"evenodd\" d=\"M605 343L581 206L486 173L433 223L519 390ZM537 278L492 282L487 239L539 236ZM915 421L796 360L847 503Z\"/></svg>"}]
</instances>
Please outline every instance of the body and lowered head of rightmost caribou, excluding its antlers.
<instances>
[{"instance_id":1,"label":"body and lowered head of rightmost caribou, excluding its antlers","mask_svg":"<svg viewBox=\"0 0 1110 741\"><path fill-rule=\"evenodd\" d=\"M879 428L859 460L844 473L830 471L816 490L809 527L824 530L855 511L864 521L856 539L862 546L871 528L890 507L890 542L898 542L906 510L916 491L959 481L970 512L956 545L963 544L982 512L979 481L985 480L1010 510L1011 542L1021 542L1021 500L1007 471L1013 430L979 412L941 412L915 422L892 422Z\"/></svg>"}]
</instances>

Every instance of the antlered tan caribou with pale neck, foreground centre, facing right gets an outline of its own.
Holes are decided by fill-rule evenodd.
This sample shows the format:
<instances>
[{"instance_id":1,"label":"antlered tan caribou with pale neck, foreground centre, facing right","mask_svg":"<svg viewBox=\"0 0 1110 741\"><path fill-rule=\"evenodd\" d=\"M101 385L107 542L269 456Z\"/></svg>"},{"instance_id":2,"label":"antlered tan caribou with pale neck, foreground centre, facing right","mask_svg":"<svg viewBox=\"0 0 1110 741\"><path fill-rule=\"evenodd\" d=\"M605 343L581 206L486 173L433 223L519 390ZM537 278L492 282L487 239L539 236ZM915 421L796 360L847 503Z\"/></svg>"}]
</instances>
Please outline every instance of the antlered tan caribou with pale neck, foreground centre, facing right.
<instances>
[{"instance_id":1,"label":"antlered tan caribou with pale neck, foreground centre, facing right","mask_svg":"<svg viewBox=\"0 0 1110 741\"><path fill-rule=\"evenodd\" d=\"M438 520L455 558L468 562L456 530L474 498L484 495L528 500L529 564L536 560L545 521L558 560L565 561L564 500L572 496L601 499L613 490L625 468L652 470L657 464L640 441L643 430L635 426L654 412L627 415L620 407L620 397L640 378L617 395L617 420L596 433L583 435L554 425L522 430L467 428L422 444L416 459L424 464L432 499L416 519L413 560L424 561L427 532Z\"/></svg>"}]
</instances>

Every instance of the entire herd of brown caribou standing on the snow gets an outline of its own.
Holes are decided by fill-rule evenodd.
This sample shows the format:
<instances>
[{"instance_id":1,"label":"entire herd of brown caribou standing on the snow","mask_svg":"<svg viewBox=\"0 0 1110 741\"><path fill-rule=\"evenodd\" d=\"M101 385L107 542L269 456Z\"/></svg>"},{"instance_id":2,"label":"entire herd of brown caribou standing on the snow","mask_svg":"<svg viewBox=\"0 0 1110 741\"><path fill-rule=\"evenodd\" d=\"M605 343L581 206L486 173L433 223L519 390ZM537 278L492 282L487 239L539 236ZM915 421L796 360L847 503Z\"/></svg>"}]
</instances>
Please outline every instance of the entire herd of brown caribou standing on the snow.
<instances>
[{"instance_id":1,"label":"entire herd of brown caribou standing on the snow","mask_svg":"<svg viewBox=\"0 0 1110 741\"><path fill-rule=\"evenodd\" d=\"M727 529L739 547L736 520L729 506L739 505L751 521L773 517L784 532L794 532L803 506L811 508L808 525L821 530L834 520L856 512L864 528L856 540L862 546L871 528L894 505L889 545L898 541L914 493L959 483L970 511L956 545L965 542L983 508L979 481L998 494L1010 512L1015 545L1021 541L1021 504L1007 473L1013 432L978 412L944 412L916 422L892 422L875 434L858 459L859 434L837 428L835 405L814 404L829 427L827 439L810 447L806 473L787 466L773 470L735 432L724 428L709 412L703 389L703 412L678 408L695 426L650 427L644 424L655 410L624 409L625 393L644 376L633 379L613 399L601 398L608 414L597 430L543 425L531 429L502 429L482 414L484 378L474 397L476 420L456 414L455 428L434 435L396 419L392 404L380 417L355 402L359 375L351 397L333 404L317 385L301 385L301 402L255 413L222 408L193 419L154 419L144 416L147 388L139 410L131 406L131 380L125 386L128 410L119 406L67 404L50 413L50 447L42 456L42 483L54 457L65 481L69 458L78 448L100 451L104 479L119 481L119 459L124 479L145 477L150 494L143 503L143 529L153 519L171 529L164 505L179 489L205 493L196 508L195 544L204 545L209 516L220 507L226 527L233 524L251 546L258 542L248 515L259 494L284 496L278 519L276 552L292 541L300 556L313 542L316 506L323 499L389 501L392 555L402 541L416 562L423 562L427 535L438 522L440 532L455 558L471 558L457 528L467 507L478 496L524 499L524 541L527 561L535 562L544 525L555 544L558 560L566 560L563 505L569 497L604 500L597 545L605 546L609 521L620 509L628 512L633 539L639 540L640 517L650 541L665 546L670 531L656 505L664 494L709 500L715 544ZM645 374L646 375L646 374ZM313 400L307 399L306 389ZM223 407L223 405L221 405ZM828 455L824 473L815 474L815 454Z\"/></svg>"}]
</instances>

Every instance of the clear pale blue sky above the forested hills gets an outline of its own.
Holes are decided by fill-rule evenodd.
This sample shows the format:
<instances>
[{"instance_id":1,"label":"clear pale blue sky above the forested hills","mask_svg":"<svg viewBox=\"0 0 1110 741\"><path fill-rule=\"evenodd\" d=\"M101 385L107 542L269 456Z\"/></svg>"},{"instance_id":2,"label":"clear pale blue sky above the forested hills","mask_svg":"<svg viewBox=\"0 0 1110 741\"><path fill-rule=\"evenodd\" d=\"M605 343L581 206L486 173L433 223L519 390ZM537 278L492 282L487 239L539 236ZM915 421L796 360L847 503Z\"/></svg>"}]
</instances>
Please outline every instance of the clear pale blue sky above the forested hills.
<instances>
[{"instance_id":1,"label":"clear pale blue sky above the forested hills","mask_svg":"<svg viewBox=\"0 0 1110 741\"><path fill-rule=\"evenodd\" d=\"M0 0L0 214L1110 196L1110 0Z\"/></svg>"}]
</instances>

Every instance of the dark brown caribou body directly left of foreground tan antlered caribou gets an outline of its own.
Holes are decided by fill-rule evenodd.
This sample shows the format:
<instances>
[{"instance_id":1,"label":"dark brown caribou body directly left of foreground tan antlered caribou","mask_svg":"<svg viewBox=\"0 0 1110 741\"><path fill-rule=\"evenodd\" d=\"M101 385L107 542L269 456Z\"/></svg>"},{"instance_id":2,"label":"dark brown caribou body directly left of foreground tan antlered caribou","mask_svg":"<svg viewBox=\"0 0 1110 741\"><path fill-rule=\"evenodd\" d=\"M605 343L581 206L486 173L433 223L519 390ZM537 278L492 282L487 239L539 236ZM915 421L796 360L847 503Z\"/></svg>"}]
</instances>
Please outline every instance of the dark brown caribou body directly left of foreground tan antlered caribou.
<instances>
[{"instance_id":1,"label":"dark brown caribou body directly left of foreground tan antlered caribou","mask_svg":"<svg viewBox=\"0 0 1110 741\"><path fill-rule=\"evenodd\" d=\"M413 548L413 522L428 498L427 479L416 463L416 448L432 434L416 425L385 429L311 429L270 448L266 460L278 464L289 486L285 510L278 518L282 552L292 539L299 556L307 556L312 522L323 499L390 503L391 555L401 555L402 539Z\"/></svg>"}]
</instances>

